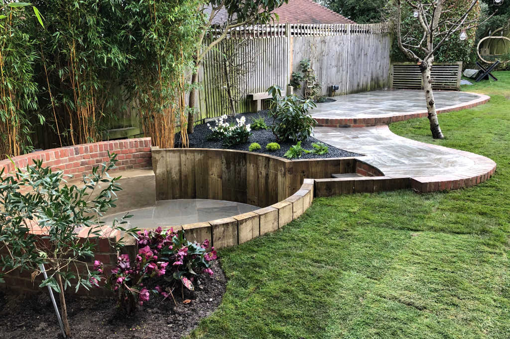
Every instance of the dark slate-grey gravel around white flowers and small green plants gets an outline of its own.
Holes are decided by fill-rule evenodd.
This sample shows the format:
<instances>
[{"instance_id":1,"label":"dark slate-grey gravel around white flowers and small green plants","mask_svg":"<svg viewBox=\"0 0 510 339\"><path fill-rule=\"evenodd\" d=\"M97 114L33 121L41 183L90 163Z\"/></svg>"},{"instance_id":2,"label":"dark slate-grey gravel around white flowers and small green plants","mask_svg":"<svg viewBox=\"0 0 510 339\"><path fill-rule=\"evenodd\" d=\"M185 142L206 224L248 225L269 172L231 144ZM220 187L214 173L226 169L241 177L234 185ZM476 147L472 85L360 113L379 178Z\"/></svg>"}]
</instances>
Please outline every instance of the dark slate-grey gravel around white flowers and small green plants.
<instances>
[{"instance_id":1,"label":"dark slate-grey gravel around white flowers and small green plants","mask_svg":"<svg viewBox=\"0 0 510 339\"><path fill-rule=\"evenodd\" d=\"M237 118L239 118L241 115L244 115L246 117L247 124L251 124L253 119L264 117L264 120L266 122L266 125L270 126L272 124L272 118L269 118L267 116L267 111L259 111L258 113L242 113L236 115ZM228 120L235 122L236 117L229 117ZM215 126L214 122L210 122L211 126ZM247 143L238 144L235 146L232 146L228 149L231 150L242 150L242 151L248 151L248 147L252 142L258 142L260 146L262 147L261 150L256 151L257 153L264 153L264 154L271 154L278 157L284 157L285 152L289 150L291 146L293 146L294 142L278 142L280 144L281 149L279 149L276 152L269 152L266 150L266 145L269 142L277 142L276 137L273 135L271 130L251 130L252 135L248 138ZM201 124L195 126L195 130L193 134L189 135L189 147L190 148L211 148L211 149L225 149L225 147L222 146L222 141L216 141L216 140L207 140L207 136L211 133L209 128L207 127L207 124ZM180 135L177 133L177 136L175 137L176 143L175 147L180 147ZM312 150L312 143L314 142L321 142L317 140L314 137L310 137L308 140L301 142L301 147L305 150ZM359 156L360 154L347 152L341 149L338 149L334 146L331 146L326 143L326 145L329 148L329 152L323 155L318 154L303 154L303 156L300 159L320 159L320 158L341 158L341 157L354 157Z\"/></svg>"}]
</instances>

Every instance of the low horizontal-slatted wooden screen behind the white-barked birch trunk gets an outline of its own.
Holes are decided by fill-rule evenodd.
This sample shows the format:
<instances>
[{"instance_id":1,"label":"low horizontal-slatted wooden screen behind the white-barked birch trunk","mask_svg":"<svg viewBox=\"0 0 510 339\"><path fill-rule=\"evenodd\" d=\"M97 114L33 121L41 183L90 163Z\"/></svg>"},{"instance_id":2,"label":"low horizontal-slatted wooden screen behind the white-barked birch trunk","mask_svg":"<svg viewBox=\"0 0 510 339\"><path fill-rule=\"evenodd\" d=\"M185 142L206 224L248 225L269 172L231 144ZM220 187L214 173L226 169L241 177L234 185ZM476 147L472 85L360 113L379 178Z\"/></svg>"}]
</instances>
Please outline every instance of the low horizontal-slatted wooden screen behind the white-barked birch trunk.
<instances>
[{"instance_id":1,"label":"low horizontal-slatted wooden screen behind the white-barked birch trunk","mask_svg":"<svg viewBox=\"0 0 510 339\"><path fill-rule=\"evenodd\" d=\"M461 87L462 62L432 65L433 89L455 89ZM422 89L422 77L418 65L410 62L391 65L391 84L394 89Z\"/></svg>"}]
</instances>

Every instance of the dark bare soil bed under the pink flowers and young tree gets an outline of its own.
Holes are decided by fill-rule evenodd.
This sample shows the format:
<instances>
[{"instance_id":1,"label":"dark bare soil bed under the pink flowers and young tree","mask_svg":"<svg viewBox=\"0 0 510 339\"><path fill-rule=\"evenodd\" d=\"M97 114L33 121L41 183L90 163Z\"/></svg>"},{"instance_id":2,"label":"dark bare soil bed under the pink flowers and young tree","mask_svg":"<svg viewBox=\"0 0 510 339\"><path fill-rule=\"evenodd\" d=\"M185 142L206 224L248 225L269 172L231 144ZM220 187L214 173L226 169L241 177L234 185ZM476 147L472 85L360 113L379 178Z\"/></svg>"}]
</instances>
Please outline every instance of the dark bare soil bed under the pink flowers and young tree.
<instances>
[{"instance_id":1,"label":"dark bare soil bed under the pink flowers and young tree","mask_svg":"<svg viewBox=\"0 0 510 339\"><path fill-rule=\"evenodd\" d=\"M226 279L217 262L211 269L214 275L201 275L194 292L184 288L184 299L180 289L174 293L177 306L171 298L152 297L130 317L117 309L111 295L92 298L71 293L66 299L72 338L179 339L221 303ZM163 279L158 283L165 286ZM186 299L190 302L183 303ZM0 292L0 338L57 339L59 333L46 288L27 296Z\"/></svg>"}]
</instances>

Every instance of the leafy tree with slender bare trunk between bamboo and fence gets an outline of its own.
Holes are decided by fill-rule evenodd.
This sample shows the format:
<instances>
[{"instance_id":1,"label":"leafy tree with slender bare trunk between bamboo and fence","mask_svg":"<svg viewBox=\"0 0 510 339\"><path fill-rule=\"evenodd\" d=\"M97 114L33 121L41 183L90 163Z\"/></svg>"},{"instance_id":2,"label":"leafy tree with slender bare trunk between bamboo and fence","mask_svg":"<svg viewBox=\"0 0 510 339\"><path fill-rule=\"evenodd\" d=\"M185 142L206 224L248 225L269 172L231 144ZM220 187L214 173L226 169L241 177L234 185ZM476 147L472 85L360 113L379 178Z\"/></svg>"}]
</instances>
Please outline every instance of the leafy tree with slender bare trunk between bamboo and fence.
<instances>
[{"instance_id":1,"label":"leafy tree with slender bare trunk between bamboo and fence","mask_svg":"<svg viewBox=\"0 0 510 339\"><path fill-rule=\"evenodd\" d=\"M288 0L212 0L199 8L205 15L205 23L199 34L197 50L193 56L194 68L191 75L191 88L188 101L188 133L193 133L194 113L196 111L196 89L198 68L203 58L228 35L231 30L249 23L266 23L275 14L271 12ZM207 39L206 38L210 38ZM207 43L204 43L207 41Z\"/></svg>"}]
</instances>

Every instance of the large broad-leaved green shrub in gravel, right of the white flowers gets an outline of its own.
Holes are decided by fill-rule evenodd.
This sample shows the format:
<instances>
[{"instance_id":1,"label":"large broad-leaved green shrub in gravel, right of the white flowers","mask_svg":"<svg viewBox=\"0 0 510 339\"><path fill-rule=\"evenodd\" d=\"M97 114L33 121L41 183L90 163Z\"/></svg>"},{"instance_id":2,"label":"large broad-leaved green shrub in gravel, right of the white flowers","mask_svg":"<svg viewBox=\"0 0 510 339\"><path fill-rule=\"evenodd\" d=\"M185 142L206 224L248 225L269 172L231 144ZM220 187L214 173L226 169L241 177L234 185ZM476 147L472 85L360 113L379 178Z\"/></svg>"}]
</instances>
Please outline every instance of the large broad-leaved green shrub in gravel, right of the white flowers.
<instances>
[{"instance_id":1,"label":"large broad-leaved green shrub in gravel, right of the white flowers","mask_svg":"<svg viewBox=\"0 0 510 339\"><path fill-rule=\"evenodd\" d=\"M310 109L317 107L315 103L294 94L282 96L282 89L276 85L267 91L273 96L269 114L273 118L270 128L276 139L294 142L308 139L317 124L309 113Z\"/></svg>"}]
</instances>

